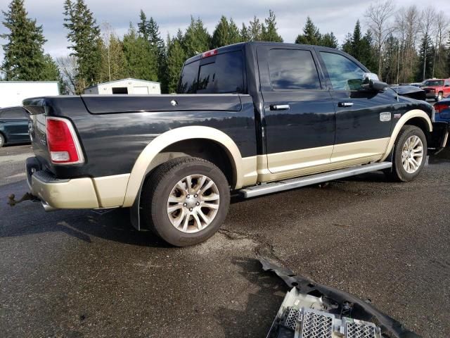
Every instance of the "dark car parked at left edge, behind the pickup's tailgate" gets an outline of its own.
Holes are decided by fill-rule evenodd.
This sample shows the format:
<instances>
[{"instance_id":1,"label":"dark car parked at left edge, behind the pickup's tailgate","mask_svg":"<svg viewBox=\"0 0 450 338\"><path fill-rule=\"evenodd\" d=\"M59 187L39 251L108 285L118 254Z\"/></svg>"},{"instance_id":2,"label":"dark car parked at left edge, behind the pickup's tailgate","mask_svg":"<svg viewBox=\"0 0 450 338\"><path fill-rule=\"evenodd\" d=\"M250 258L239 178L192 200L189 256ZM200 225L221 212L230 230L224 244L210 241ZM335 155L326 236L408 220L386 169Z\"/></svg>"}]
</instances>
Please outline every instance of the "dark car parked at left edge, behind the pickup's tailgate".
<instances>
[{"instance_id":1,"label":"dark car parked at left edge, behind the pickup's tailgate","mask_svg":"<svg viewBox=\"0 0 450 338\"><path fill-rule=\"evenodd\" d=\"M0 109L0 148L6 144L30 142L28 120L23 107Z\"/></svg>"}]
</instances>

